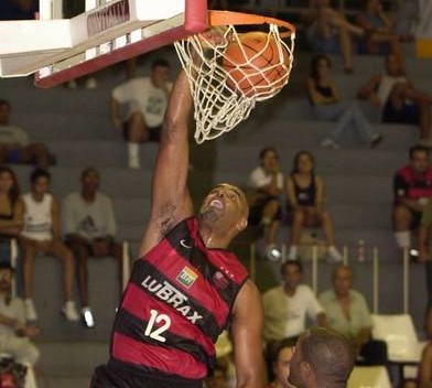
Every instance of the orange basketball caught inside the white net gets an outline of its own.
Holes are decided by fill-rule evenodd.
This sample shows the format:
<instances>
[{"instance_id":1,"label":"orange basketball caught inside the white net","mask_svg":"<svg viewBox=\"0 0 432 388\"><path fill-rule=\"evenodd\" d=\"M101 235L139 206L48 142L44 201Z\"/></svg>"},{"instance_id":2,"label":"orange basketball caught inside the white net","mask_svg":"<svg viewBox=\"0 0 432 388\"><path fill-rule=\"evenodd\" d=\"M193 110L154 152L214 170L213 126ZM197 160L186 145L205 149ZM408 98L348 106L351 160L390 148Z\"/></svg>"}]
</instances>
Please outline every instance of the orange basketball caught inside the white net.
<instances>
[{"instance_id":1,"label":"orange basketball caught inside the white net","mask_svg":"<svg viewBox=\"0 0 432 388\"><path fill-rule=\"evenodd\" d=\"M289 53L283 45L281 50L283 60L274 37L267 33L239 35L239 42L228 45L223 60L227 86L247 97L279 91L289 75Z\"/></svg>"}]
</instances>

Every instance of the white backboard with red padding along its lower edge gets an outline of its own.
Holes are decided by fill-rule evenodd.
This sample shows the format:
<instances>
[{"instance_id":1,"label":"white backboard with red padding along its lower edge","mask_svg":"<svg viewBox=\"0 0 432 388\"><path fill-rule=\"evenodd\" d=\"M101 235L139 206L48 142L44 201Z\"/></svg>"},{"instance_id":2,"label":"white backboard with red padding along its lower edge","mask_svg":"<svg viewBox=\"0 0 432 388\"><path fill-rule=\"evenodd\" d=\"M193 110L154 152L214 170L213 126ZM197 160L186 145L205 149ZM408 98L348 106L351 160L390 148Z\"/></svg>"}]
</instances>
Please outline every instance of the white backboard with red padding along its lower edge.
<instances>
[{"instance_id":1,"label":"white backboard with red padding along its lower edge","mask_svg":"<svg viewBox=\"0 0 432 388\"><path fill-rule=\"evenodd\" d=\"M1 77L35 73L51 87L207 28L206 0L86 0L72 19L62 1L40 0L39 20L0 22Z\"/></svg>"}]
</instances>

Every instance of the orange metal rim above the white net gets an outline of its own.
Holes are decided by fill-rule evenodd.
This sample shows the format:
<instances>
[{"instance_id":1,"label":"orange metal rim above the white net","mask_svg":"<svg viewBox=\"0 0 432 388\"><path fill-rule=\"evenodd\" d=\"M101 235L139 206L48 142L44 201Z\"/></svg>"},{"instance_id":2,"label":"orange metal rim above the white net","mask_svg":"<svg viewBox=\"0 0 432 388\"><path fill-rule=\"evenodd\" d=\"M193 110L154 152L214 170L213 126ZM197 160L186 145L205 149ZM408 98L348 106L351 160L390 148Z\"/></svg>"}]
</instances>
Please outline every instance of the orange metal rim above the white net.
<instances>
[{"instance_id":1,"label":"orange metal rim above the white net","mask_svg":"<svg viewBox=\"0 0 432 388\"><path fill-rule=\"evenodd\" d=\"M208 11L208 24L218 25L245 25L245 24L276 24L288 31L281 32L281 37L287 37L295 32L295 26L280 19L261 17L252 13L231 12L231 11Z\"/></svg>"}]
</instances>

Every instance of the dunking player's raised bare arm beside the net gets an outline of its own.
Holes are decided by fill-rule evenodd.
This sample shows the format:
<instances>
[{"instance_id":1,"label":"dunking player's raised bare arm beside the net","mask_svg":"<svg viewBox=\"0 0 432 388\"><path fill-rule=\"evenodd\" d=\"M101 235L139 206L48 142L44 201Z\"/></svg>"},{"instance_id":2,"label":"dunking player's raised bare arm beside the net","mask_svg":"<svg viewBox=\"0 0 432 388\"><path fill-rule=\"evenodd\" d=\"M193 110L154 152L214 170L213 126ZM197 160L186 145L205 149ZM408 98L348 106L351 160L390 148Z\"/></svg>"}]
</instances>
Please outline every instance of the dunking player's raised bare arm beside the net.
<instances>
[{"instance_id":1,"label":"dunking player's raised bare arm beside the net","mask_svg":"<svg viewBox=\"0 0 432 388\"><path fill-rule=\"evenodd\" d=\"M182 71L172 89L163 123L153 173L151 215L140 256L158 244L175 224L193 214L186 186L192 103L187 77Z\"/></svg>"}]
</instances>

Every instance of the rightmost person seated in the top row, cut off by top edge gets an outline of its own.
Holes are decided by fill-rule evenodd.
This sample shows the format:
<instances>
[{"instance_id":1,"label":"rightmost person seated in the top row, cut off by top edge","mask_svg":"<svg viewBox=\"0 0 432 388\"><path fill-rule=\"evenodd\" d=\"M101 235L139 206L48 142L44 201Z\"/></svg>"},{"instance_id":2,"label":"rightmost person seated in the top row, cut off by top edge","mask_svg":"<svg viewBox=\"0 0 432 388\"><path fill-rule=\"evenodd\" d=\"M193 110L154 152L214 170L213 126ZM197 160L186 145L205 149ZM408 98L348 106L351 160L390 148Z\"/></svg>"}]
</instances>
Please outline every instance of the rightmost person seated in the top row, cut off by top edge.
<instances>
[{"instance_id":1,"label":"rightmost person seated in the top row, cut off by top edge","mask_svg":"<svg viewBox=\"0 0 432 388\"><path fill-rule=\"evenodd\" d=\"M359 50L365 54L401 55L400 39L393 22L382 10L380 0L364 0L364 10L356 15L356 24L364 29Z\"/></svg>"}]
</instances>

